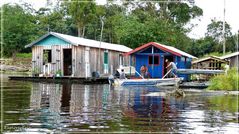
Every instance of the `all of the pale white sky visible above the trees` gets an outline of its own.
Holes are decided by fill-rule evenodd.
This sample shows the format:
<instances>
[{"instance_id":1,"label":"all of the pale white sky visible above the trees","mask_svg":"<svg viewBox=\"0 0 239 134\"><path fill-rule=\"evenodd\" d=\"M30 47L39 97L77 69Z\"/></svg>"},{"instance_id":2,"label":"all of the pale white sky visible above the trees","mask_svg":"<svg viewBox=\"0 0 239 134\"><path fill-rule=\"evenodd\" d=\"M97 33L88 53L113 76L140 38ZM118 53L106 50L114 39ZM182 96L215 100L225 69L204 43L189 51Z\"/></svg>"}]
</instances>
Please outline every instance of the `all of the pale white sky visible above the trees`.
<instances>
[{"instance_id":1,"label":"all of the pale white sky visible above the trees","mask_svg":"<svg viewBox=\"0 0 239 134\"><path fill-rule=\"evenodd\" d=\"M1 0L0 5L9 2L27 2L36 9L46 6L46 0ZM97 0L97 2L104 4L106 0ZM195 0L195 5L203 9L203 16L190 22L196 26L188 36L199 39L205 36L207 25L212 19L223 21L224 0ZM225 21L231 26L232 33L235 34L239 30L239 0L225 0L225 9Z\"/></svg>"}]
</instances>

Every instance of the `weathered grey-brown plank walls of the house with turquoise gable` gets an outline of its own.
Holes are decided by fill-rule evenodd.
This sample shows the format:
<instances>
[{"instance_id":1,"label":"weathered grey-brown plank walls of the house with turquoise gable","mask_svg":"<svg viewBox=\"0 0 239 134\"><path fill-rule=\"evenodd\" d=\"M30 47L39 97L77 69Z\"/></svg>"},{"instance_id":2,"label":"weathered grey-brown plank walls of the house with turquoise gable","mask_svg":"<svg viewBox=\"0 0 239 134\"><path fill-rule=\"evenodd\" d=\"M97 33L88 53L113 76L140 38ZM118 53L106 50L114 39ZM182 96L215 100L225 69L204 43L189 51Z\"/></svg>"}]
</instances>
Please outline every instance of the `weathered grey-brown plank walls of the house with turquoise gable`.
<instances>
[{"instance_id":1,"label":"weathered grey-brown plank walls of the house with turquoise gable","mask_svg":"<svg viewBox=\"0 0 239 134\"><path fill-rule=\"evenodd\" d=\"M86 49L89 49L89 63L90 63L90 76L94 71L99 71L102 75L104 74L104 51L105 49L89 48L85 46L73 46L73 45L45 45L32 47L32 67L39 68L43 72L43 50L52 50L52 63L51 72L55 74L58 70L61 70L64 74L63 69L63 50L72 49L72 73L75 77L86 76L86 64L85 64L85 53ZM108 74L115 73L115 70L119 68L120 54L122 52L108 50ZM129 65L129 56L124 57L124 65Z\"/></svg>"}]
</instances>

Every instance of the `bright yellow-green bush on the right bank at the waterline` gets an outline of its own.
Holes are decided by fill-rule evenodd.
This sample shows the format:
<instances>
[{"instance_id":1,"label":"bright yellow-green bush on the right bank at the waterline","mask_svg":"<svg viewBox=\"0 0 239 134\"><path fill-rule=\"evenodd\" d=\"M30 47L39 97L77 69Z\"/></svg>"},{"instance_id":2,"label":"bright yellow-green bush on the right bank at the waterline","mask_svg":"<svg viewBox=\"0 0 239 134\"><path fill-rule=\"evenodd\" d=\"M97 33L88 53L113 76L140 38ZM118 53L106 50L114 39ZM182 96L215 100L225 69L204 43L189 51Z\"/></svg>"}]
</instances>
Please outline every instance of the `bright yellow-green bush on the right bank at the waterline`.
<instances>
[{"instance_id":1,"label":"bright yellow-green bush on the right bank at the waterline","mask_svg":"<svg viewBox=\"0 0 239 134\"><path fill-rule=\"evenodd\" d=\"M224 75L217 75L210 79L209 90L238 90L239 74L236 68L230 69Z\"/></svg>"}]
</instances>

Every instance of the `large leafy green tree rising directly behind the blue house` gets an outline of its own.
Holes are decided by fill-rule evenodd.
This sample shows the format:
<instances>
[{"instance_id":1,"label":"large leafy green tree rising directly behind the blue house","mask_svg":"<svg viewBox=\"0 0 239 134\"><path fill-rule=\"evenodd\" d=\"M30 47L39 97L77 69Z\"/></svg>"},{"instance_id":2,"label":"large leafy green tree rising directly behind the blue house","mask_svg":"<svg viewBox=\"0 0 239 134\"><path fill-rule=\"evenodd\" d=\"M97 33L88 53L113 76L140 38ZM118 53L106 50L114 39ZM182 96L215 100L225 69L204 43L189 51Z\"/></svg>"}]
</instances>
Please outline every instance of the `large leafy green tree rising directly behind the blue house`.
<instances>
[{"instance_id":1,"label":"large leafy green tree rising directly behind the blue house","mask_svg":"<svg viewBox=\"0 0 239 134\"><path fill-rule=\"evenodd\" d=\"M160 8L157 8L157 4ZM129 2L132 7L117 28L121 44L135 48L140 44L157 41L187 51L191 40L185 29L191 19L202 15L202 9L186 3ZM183 10L182 10L183 9Z\"/></svg>"}]
</instances>

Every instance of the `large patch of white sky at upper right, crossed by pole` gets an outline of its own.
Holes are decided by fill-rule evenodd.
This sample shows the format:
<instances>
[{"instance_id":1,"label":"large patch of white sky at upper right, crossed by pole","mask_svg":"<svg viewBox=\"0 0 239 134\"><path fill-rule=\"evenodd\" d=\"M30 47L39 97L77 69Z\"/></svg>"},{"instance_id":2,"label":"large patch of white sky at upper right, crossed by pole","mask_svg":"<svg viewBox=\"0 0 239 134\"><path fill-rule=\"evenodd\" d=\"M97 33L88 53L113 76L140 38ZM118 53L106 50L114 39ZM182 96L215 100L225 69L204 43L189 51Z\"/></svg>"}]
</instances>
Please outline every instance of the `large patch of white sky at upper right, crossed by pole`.
<instances>
[{"instance_id":1,"label":"large patch of white sky at upper right, crossed by pole","mask_svg":"<svg viewBox=\"0 0 239 134\"><path fill-rule=\"evenodd\" d=\"M190 37L199 38L205 35L207 25L211 19L223 21L224 0L195 0L195 4L203 9L201 21L193 21L198 24L189 34ZM239 30L239 0L225 0L226 15L225 20L232 28L232 33Z\"/></svg>"}]
</instances>

